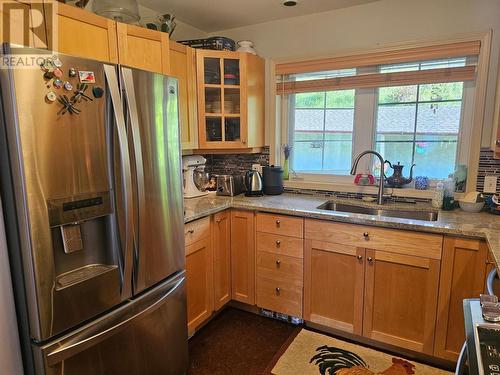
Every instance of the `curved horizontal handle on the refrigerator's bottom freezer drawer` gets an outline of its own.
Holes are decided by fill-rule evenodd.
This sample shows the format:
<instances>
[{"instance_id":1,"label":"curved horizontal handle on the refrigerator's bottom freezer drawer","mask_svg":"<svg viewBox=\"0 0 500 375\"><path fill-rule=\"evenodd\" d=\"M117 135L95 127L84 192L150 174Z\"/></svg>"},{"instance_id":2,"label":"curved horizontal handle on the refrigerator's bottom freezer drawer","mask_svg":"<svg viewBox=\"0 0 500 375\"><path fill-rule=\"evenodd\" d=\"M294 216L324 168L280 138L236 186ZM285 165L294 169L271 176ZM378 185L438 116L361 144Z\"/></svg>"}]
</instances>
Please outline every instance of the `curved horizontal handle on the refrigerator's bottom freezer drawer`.
<instances>
[{"instance_id":1,"label":"curved horizontal handle on the refrigerator's bottom freezer drawer","mask_svg":"<svg viewBox=\"0 0 500 375\"><path fill-rule=\"evenodd\" d=\"M153 297L155 297L156 294L160 294L160 297L153 302L146 304L147 306L145 308L135 314L133 314L134 308L132 306L130 309L131 311L125 315L125 318L123 316L118 316L115 319L118 321L117 323L108 322L109 319L106 319L106 316L104 316L100 321L97 321L97 323L93 323L90 328L85 329L84 327L80 332L76 332L75 334L63 338L55 344L51 344L49 348L46 349L47 352L45 352L47 365L54 366L68 358L74 357L78 353L97 345L98 343L127 328L132 322L152 313L157 308L161 307L163 302L168 299L172 293L177 291L177 288L180 287L184 280L184 275L177 278L173 285L169 285L168 291L164 294L161 293L161 291L160 293L158 293L158 291L156 291L156 293L151 293L154 294ZM124 307L124 309L126 308ZM100 322L102 323L99 324Z\"/></svg>"}]
</instances>

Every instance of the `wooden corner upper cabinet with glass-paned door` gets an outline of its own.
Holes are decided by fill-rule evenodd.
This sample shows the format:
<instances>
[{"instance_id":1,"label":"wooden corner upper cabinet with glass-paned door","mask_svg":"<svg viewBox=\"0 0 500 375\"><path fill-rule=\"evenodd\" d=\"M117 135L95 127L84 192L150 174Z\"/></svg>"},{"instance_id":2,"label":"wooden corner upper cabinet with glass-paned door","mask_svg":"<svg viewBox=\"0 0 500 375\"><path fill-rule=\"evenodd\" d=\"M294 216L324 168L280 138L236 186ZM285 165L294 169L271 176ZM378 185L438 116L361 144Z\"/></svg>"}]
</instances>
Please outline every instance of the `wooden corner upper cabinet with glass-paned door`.
<instances>
[{"instance_id":1,"label":"wooden corner upper cabinet with glass-paned door","mask_svg":"<svg viewBox=\"0 0 500 375\"><path fill-rule=\"evenodd\" d=\"M196 51L200 149L264 146L264 60L229 51Z\"/></svg>"}]
</instances>

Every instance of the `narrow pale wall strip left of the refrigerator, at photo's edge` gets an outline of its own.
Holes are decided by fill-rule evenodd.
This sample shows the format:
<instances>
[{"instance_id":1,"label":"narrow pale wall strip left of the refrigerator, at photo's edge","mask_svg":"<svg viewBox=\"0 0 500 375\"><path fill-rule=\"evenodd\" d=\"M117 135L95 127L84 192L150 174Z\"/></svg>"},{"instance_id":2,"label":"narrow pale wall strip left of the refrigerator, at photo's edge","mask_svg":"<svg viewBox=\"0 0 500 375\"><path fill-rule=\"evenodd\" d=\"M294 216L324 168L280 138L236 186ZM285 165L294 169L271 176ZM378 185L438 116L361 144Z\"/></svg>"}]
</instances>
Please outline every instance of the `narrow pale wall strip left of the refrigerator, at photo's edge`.
<instances>
[{"instance_id":1,"label":"narrow pale wall strip left of the refrigerator, at photo's edge","mask_svg":"<svg viewBox=\"0 0 500 375\"><path fill-rule=\"evenodd\" d=\"M2 204L0 202L0 369L2 374L21 375L23 364L17 331L12 281L10 279L9 259L3 224Z\"/></svg>"}]
</instances>

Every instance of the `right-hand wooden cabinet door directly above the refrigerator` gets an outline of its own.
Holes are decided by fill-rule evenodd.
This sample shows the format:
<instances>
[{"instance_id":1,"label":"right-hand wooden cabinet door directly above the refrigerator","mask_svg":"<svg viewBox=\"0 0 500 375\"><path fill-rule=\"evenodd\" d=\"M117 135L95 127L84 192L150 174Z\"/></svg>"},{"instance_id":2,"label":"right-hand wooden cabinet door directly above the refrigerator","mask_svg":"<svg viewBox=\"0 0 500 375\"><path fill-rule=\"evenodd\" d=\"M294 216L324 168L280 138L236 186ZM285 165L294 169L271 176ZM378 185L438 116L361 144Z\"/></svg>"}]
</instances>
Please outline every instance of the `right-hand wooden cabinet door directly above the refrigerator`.
<instances>
[{"instance_id":1,"label":"right-hand wooden cabinet door directly above the refrigerator","mask_svg":"<svg viewBox=\"0 0 500 375\"><path fill-rule=\"evenodd\" d=\"M170 74L168 34L144 27L116 23L120 64L150 72Z\"/></svg>"}]
</instances>

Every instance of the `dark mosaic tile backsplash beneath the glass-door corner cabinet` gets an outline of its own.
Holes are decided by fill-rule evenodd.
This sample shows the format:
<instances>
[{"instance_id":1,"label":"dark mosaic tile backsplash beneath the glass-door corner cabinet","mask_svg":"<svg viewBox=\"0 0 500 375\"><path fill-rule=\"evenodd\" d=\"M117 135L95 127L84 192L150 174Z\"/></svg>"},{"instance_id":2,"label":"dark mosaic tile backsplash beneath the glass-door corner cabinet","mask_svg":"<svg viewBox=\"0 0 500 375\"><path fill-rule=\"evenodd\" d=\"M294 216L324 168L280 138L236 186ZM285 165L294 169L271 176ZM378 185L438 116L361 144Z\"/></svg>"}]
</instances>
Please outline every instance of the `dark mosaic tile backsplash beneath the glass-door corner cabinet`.
<instances>
[{"instance_id":1,"label":"dark mosaic tile backsplash beneath the glass-door corner cabinet","mask_svg":"<svg viewBox=\"0 0 500 375\"><path fill-rule=\"evenodd\" d=\"M244 174L252 164L269 165L269 147L256 154L203 155L207 159L205 170L215 174Z\"/></svg>"}]
</instances>

